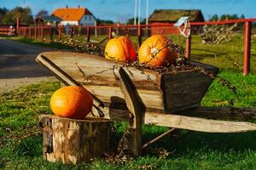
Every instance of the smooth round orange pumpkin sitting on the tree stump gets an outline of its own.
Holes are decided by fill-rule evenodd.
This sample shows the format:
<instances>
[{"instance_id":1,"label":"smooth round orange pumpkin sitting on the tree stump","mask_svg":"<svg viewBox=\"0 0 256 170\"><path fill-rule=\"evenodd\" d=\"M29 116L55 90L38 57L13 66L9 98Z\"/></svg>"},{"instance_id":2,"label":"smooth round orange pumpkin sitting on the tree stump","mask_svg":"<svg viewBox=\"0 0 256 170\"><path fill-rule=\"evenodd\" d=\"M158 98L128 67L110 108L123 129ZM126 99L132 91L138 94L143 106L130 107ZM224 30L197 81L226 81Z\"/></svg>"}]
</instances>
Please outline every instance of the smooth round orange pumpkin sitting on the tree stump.
<instances>
[{"instance_id":1,"label":"smooth round orange pumpkin sitting on the tree stump","mask_svg":"<svg viewBox=\"0 0 256 170\"><path fill-rule=\"evenodd\" d=\"M50 99L50 108L55 116L83 119L92 108L90 93L79 86L67 86L55 91Z\"/></svg>"}]
</instances>

